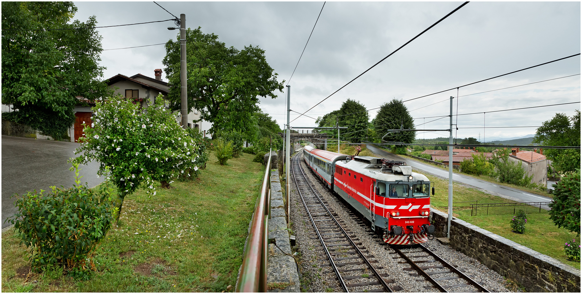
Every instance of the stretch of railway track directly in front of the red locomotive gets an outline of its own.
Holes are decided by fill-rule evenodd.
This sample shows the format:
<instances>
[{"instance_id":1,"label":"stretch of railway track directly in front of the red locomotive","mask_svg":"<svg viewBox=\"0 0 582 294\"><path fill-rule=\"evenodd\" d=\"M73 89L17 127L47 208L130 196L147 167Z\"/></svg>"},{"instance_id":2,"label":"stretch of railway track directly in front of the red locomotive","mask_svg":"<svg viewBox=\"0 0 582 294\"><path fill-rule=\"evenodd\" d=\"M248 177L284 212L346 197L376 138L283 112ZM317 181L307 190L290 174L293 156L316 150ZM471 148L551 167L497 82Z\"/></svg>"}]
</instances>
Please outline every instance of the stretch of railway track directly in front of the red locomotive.
<instances>
[{"instance_id":1,"label":"stretch of railway track directly in front of the red locomotive","mask_svg":"<svg viewBox=\"0 0 582 294\"><path fill-rule=\"evenodd\" d=\"M484 286L471 279L452 264L449 264L437 254L426 248L422 244L407 246L400 250L402 246L390 245L390 248L398 254L393 259L404 259L399 263L407 263L411 267L404 268L405 271L417 271L417 274L410 274L413 277L422 275L432 286L425 286L425 289L438 289L441 292L490 292ZM432 257L432 258L428 258ZM413 260L414 259L414 260ZM460 280L460 281L459 281ZM447 282L446 284L443 282Z\"/></svg>"}]
</instances>

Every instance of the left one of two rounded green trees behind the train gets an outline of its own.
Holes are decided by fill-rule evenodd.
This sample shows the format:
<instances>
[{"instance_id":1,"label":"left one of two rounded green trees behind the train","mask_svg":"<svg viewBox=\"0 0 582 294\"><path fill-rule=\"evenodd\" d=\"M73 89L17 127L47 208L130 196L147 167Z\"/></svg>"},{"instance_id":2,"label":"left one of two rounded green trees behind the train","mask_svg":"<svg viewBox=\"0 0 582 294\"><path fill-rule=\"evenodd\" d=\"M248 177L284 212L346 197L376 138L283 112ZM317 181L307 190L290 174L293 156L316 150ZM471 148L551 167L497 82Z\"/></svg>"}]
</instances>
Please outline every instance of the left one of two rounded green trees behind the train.
<instances>
[{"instance_id":1,"label":"left one of two rounded green trees behind the train","mask_svg":"<svg viewBox=\"0 0 582 294\"><path fill-rule=\"evenodd\" d=\"M342 103L338 113L339 126L347 127L340 131L340 137L346 141L357 143L361 138L368 137L368 112L359 101L347 99ZM342 135L345 134L345 135Z\"/></svg>"}]
</instances>

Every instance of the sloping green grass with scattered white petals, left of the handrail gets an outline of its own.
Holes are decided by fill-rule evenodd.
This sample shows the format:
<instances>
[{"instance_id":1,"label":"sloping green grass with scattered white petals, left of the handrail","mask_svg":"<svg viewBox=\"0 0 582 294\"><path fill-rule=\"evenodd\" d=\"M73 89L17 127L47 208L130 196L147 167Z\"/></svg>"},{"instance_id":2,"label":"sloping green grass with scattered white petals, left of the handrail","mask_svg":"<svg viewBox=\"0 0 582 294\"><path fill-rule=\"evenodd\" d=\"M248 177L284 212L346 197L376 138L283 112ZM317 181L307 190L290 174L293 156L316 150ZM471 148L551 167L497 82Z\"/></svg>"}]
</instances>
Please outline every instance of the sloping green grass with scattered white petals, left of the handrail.
<instances>
[{"instance_id":1,"label":"sloping green grass with scattered white petals, left of the handrail","mask_svg":"<svg viewBox=\"0 0 582 294\"><path fill-rule=\"evenodd\" d=\"M89 281L40 273L25 284L15 276L30 266L29 253L14 230L4 232L2 291L221 292L232 285L232 292L264 172L253 157L243 153L220 166L211 156L197 180L173 182L151 199L141 190L126 196L119 226L95 251Z\"/></svg>"}]
</instances>

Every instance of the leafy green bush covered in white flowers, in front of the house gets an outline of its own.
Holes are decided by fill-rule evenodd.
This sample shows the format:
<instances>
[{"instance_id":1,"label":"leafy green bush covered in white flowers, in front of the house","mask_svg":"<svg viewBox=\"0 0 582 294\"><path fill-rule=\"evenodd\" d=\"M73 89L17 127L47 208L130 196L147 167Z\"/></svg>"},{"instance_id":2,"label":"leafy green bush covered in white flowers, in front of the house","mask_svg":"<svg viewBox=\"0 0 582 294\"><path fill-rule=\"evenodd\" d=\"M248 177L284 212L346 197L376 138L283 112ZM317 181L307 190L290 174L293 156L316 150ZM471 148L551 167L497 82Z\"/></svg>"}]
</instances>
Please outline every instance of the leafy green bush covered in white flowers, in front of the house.
<instances>
[{"instance_id":1,"label":"leafy green bush covered in white flowers, in front of the house","mask_svg":"<svg viewBox=\"0 0 582 294\"><path fill-rule=\"evenodd\" d=\"M198 145L164 107L162 95L154 105L139 108L121 97L97 102L93 124L83 129L86 138L79 139L81 146L75 151L83 152L77 163L100 162L99 175L109 167L106 176L119 188L121 202L140 186L155 195L155 181L168 187L184 169L198 173Z\"/></svg>"}]
</instances>

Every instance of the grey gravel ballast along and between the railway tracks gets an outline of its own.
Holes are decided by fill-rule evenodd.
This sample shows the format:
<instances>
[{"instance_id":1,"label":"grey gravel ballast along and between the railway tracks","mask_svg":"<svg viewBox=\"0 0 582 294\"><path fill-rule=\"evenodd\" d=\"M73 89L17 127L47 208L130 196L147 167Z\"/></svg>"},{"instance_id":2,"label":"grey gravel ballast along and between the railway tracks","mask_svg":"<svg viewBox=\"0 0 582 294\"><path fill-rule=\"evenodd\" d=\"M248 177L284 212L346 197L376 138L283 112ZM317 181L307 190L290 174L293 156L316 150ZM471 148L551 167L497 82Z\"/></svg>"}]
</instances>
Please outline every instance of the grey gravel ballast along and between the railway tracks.
<instances>
[{"instance_id":1,"label":"grey gravel ballast along and between the railway tracks","mask_svg":"<svg viewBox=\"0 0 582 294\"><path fill-rule=\"evenodd\" d=\"M338 214L336 218L338 221L343 221L342 225L346 231L349 231L350 235L355 235L355 238L359 240L356 242L362 242L359 247L364 250L368 250L367 256L374 256L369 258L369 260L377 260L378 263L373 263L375 268L383 267L379 269L379 273L387 274L385 279L393 279L394 283L389 284L395 292L439 292L438 289L425 288L425 286L432 286L428 281L425 281L424 277L417 276L413 277L411 274L416 274L416 271L405 271L404 268L410 267L406 263L398 263L398 261L404 261L403 259L395 259L393 257L399 257L394 250L390 249L388 245L382 242L379 235L373 234L370 227L361 220L360 214L356 210L350 209L346 204L342 202L339 196L334 195L329 189L325 188L324 185L316 178L310 169L307 167L303 161L303 155L301 156L301 166L307 174L308 179L314 184L314 188L320 192L322 199L327 201L327 205L330 210L335 211ZM293 175L291 175L293 176ZM327 256L325 255L321 243L315 235L315 231L309 218L307 217L307 212L303 207L301 198L297 193L297 188L294 187L294 182L290 191L290 227L292 228L294 235L296 236L296 254L301 257L301 289L304 292L343 292L340 287L335 273L332 272L332 267L329 263ZM333 231L329 231L330 233ZM495 271L489 270L479 261L472 259L471 257L465 256L463 253L457 252L450 249L449 246L441 245L436 239L428 241L425 246L432 252L438 254L443 260L448 261L448 263L456 265L459 270L464 270L464 274L469 275L477 282L481 282L485 288L491 292L510 292L505 286L505 279L495 273ZM365 249L364 249L365 248ZM342 248L336 248L333 252L342 252ZM420 249L401 249L403 252L410 250L420 250ZM345 252L345 251L344 251ZM330 252L331 253L331 252ZM352 255L346 255L348 257ZM430 257L432 258L432 257ZM414 259L413 259L414 260ZM417 259L416 259L417 260ZM439 264L437 262L437 264ZM351 265L341 267L341 270L345 269L357 269L361 266ZM427 270L428 271L428 270ZM358 276L371 273L365 273L365 271L350 271L349 276ZM455 276L455 274L439 274L438 278ZM347 283L359 283L368 282L370 279L356 278L346 281ZM464 281L461 280L442 280L439 281L441 285L455 285L461 284ZM364 289L374 289L381 288L379 285L375 286L365 286L365 287L350 287L350 292L363 291ZM450 288L449 292L464 292L473 290L473 286L470 287L459 287Z\"/></svg>"}]
</instances>

